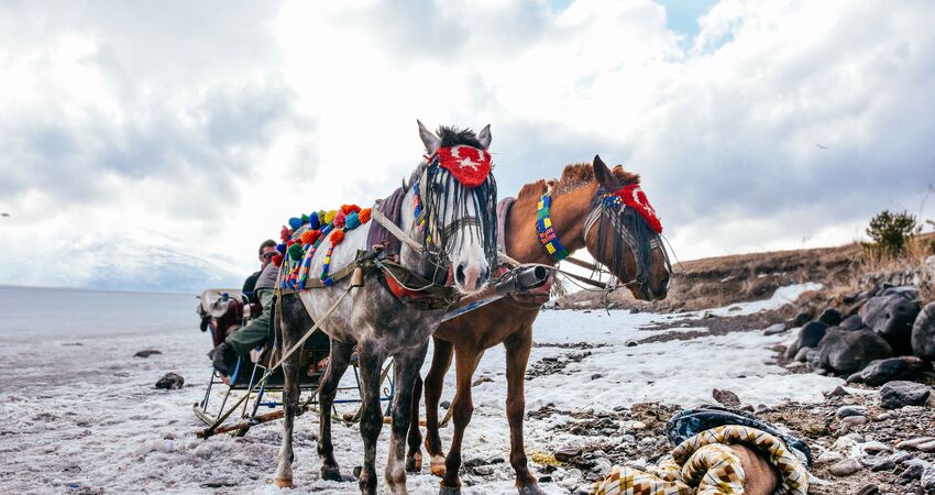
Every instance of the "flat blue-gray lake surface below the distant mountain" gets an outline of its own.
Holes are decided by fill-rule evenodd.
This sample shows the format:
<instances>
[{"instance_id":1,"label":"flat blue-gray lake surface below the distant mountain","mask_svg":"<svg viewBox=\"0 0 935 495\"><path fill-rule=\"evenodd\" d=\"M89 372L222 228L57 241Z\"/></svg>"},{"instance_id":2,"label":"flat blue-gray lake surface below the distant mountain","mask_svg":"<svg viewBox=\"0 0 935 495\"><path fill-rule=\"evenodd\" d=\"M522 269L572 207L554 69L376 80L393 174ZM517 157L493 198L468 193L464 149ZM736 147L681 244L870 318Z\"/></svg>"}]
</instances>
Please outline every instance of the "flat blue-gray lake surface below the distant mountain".
<instances>
[{"instance_id":1,"label":"flat blue-gray lake surface below the distant mountain","mask_svg":"<svg viewBox=\"0 0 935 495\"><path fill-rule=\"evenodd\" d=\"M194 294L0 286L3 342L196 329Z\"/></svg>"}]
</instances>

